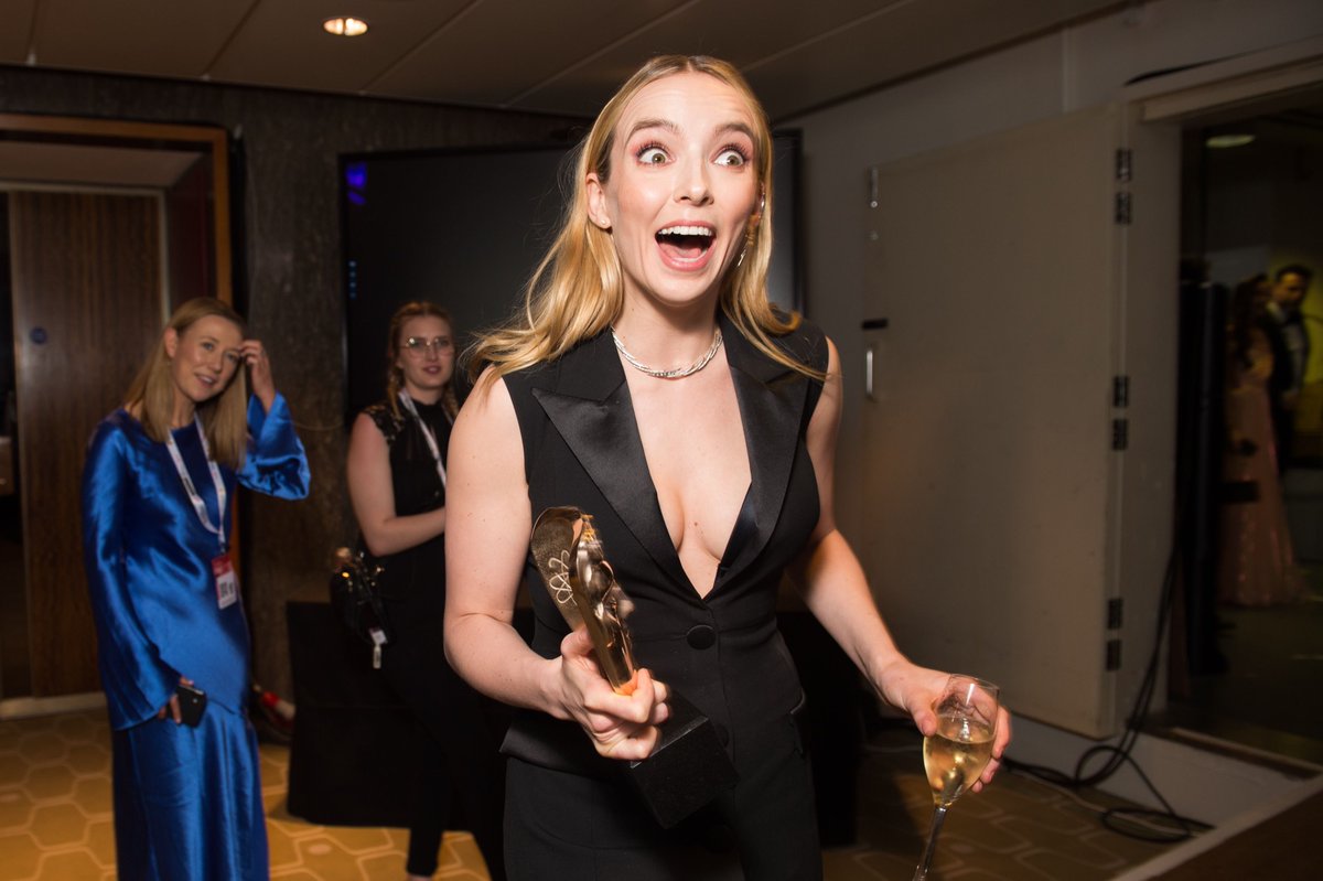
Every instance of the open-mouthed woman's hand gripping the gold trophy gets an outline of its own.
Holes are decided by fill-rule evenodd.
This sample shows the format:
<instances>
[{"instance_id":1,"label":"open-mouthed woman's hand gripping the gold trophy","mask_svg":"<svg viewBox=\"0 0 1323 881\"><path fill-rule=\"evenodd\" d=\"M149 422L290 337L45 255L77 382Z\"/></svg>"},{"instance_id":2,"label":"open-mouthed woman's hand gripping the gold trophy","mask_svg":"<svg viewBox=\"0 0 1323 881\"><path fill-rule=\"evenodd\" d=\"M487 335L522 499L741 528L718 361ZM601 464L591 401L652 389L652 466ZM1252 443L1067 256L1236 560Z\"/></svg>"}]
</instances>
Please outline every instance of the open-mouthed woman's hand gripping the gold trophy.
<instances>
[{"instance_id":1,"label":"open-mouthed woman's hand gripping the gold trophy","mask_svg":"<svg viewBox=\"0 0 1323 881\"><path fill-rule=\"evenodd\" d=\"M593 640L576 630L561 640L560 693L565 717L579 724L606 758L640 761L651 755L669 717L667 687L639 669L630 694L618 694L593 657Z\"/></svg>"}]
</instances>

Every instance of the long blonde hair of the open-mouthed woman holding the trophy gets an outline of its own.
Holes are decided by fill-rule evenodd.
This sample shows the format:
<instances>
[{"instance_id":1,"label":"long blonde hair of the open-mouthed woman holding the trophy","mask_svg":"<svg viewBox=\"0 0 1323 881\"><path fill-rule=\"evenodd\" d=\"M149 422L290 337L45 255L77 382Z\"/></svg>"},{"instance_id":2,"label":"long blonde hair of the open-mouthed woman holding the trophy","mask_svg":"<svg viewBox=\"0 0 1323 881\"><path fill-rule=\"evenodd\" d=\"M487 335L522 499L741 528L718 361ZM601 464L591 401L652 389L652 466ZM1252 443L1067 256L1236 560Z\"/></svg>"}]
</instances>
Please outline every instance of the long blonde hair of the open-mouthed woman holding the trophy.
<instances>
[{"instance_id":1,"label":"long blonde hair of the open-mouthed woman holding the trophy","mask_svg":"<svg viewBox=\"0 0 1323 881\"><path fill-rule=\"evenodd\" d=\"M503 327L482 335L464 353L471 376L476 377L488 364L495 366L492 376L496 377L553 361L605 331L619 316L624 306L620 263L611 233L589 217L587 176L597 173L603 184L610 177L615 130L630 101L644 86L680 73L706 74L730 86L744 97L754 119L761 205L749 218L742 259L722 279L721 310L763 353L795 370L819 376L771 340L795 329L799 316L777 312L767 300L773 143L766 114L740 71L708 56L658 56L650 60L598 114L578 146L574 177L565 187L570 198L561 229L529 279L524 308Z\"/></svg>"}]
</instances>

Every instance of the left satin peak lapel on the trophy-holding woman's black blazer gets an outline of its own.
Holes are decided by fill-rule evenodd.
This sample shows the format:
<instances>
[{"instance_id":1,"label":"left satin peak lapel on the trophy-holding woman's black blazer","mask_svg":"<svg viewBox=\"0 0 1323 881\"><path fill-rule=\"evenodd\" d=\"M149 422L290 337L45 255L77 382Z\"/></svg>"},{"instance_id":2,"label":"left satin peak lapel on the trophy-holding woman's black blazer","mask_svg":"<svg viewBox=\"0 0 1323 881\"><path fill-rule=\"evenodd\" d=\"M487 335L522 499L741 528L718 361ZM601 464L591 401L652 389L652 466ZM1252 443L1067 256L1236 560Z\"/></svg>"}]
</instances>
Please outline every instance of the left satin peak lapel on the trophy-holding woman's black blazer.
<instances>
[{"instance_id":1,"label":"left satin peak lapel on the trophy-holding woman's black blazer","mask_svg":"<svg viewBox=\"0 0 1323 881\"><path fill-rule=\"evenodd\" d=\"M601 333L566 353L556 388L533 389L533 397L620 521L663 571L696 595L662 519L611 337Z\"/></svg>"}]
</instances>

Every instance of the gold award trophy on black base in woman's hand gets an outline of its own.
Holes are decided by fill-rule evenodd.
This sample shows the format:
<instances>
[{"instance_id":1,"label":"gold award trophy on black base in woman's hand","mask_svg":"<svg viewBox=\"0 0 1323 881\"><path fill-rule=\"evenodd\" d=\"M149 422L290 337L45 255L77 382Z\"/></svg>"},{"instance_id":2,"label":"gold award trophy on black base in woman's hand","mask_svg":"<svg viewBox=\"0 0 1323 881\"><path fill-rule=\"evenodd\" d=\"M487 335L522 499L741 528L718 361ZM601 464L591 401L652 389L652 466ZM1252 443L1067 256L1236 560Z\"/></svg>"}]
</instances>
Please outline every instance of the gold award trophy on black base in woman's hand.
<instances>
[{"instance_id":1,"label":"gold award trophy on black base in woman's hand","mask_svg":"<svg viewBox=\"0 0 1323 881\"><path fill-rule=\"evenodd\" d=\"M638 668L624 619L634 603L615 581L591 515L548 508L533 525L532 549L565 623L587 630L602 676L617 693L631 693ZM642 762L630 762L627 776L658 823L669 828L733 786L737 775L706 716L675 689L667 706L671 714L656 747Z\"/></svg>"}]
</instances>

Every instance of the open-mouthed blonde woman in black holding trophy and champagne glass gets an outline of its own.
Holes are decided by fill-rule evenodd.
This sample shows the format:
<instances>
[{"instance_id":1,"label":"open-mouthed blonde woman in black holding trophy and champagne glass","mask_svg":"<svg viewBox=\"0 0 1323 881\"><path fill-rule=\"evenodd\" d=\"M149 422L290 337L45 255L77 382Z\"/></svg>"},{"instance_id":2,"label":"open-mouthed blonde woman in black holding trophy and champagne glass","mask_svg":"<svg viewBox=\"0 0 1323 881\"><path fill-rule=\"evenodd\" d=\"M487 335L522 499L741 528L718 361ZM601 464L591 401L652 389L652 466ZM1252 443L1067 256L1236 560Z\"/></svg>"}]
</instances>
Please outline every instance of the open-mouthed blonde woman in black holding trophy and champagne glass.
<instances>
[{"instance_id":1,"label":"open-mouthed blonde woman in black holding trophy and champagne glass","mask_svg":"<svg viewBox=\"0 0 1323 881\"><path fill-rule=\"evenodd\" d=\"M525 307L471 352L487 366L451 441L446 650L523 708L504 745L511 877L822 877L775 618L787 570L877 693L935 730L946 673L897 650L836 528L839 356L767 300L771 159L732 65L648 61L581 144ZM593 516L634 603L630 694L529 561L534 519L562 505ZM512 626L521 581L532 646ZM617 769L650 755L671 688L712 720L738 783L663 829ZM1009 735L1003 713L975 788Z\"/></svg>"}]
</instances>

